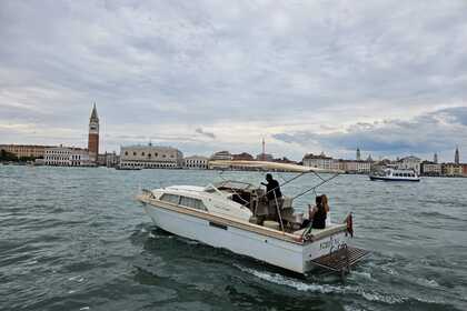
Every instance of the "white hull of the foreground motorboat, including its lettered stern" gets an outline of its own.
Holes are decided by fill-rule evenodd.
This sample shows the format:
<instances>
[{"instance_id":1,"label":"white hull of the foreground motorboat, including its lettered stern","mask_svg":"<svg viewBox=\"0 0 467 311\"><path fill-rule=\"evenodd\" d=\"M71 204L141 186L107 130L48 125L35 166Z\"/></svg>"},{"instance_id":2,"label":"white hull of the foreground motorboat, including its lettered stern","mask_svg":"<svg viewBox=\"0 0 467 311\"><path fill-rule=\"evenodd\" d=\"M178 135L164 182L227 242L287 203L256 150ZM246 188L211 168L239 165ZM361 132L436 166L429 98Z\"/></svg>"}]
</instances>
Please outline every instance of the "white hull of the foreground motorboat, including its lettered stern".
<instances>
[{"instance_id":1,"label":"white hull of the foreground motorboat, including its lettered stern","mask_svg":"<svg viewBox=\"0 0 467 311\"><path fill-rule=\"evenodd\" d=\"M298 243L179 213L156 204L146 203L145 211L156 225L168 232L298 273L311 270L315 265L310 260L337 250L339 245L347 243L348 239L345 232L340 231L314 242Z\"/></svg>"}]
</instances>

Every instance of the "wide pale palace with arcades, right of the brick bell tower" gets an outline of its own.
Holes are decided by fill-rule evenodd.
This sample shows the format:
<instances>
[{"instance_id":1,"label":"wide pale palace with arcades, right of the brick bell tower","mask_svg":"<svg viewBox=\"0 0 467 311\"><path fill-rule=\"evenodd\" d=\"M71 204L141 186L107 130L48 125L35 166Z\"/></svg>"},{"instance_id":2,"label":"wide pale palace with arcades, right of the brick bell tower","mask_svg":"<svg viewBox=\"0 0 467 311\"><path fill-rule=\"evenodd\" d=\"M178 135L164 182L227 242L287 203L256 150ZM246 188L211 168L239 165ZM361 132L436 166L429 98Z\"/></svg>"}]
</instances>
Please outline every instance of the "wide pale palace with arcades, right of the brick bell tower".
<instances>
[{"instance_id":1,"label":"wide pale palace with arcades, right of the brick bell tower","mask_svg":"<svg viewBox=\"0 0 467 311\"><path fill-rule=\"evenodd\" d=\"M171 147L128 146L121 147L120 168L178 169L183 165L183 153Z\"/></svg>"}]
</instances>

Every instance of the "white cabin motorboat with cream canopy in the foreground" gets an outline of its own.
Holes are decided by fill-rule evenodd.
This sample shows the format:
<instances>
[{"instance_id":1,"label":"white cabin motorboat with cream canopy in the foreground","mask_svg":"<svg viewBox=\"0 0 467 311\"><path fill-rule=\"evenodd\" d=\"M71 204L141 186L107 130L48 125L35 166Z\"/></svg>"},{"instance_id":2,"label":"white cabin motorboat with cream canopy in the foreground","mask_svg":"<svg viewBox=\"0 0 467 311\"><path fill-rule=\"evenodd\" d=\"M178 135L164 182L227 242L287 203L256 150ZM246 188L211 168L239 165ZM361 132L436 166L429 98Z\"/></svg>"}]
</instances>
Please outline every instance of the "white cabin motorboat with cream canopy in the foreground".
<instances>
[{"instance_id":1,"label":"white cabin motorboat with cream canopy in the foreground","mask_svg":"<svg viewBox=\"0 0 467 311\"><path fill-rule=\"evenodd\" d=\"M234 167L279 169L278 163L269 163L231 161ZM298 172L281 185L305 173L326 172L295 164L281 168ZM352 264L367 254L365 250L349 245L352 237L351 213L342 223L312 229L310 225L300 227L304 213L294 208L296 198L314 191L338 173L340 171L328 178L320 177L317 185L295 197L285 195L276 200L279 221L268 220L267 217L259 221L260 211L268 204L266 190L244 181L222 180L207 187L171 185L142 190L137 200L142 202L146 213L157 227L173 234L301 274L321 267L345 275Z\"/></svg>"}]
</instances>

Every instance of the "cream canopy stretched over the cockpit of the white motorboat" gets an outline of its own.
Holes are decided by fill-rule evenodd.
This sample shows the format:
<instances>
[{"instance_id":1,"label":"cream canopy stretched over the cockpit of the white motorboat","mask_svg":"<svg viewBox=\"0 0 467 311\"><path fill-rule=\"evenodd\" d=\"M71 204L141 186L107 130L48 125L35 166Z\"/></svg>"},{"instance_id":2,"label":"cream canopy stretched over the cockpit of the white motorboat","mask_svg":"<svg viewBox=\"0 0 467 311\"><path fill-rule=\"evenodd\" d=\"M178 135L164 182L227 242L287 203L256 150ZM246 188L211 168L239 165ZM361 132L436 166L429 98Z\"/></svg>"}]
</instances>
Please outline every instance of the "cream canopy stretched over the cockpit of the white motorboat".
<instances>
[{"instance_id":1,"label":"cream canopy stretched over the cockpit of the white motorboat","mask_svg":"<svg viewBox=\"0 0 467 311\"><path fill-rule=\"evenodd\" d=\"M317 173L345 173L342 170L327 170L304 167L291 163L279 163L279 162L268 162L268 161L246 161L246 160L217 160L210 161L210 165L219 169L252 169L252 170L264 170L264 171L285 171L285 172L317 172Z\"/></svg>"}]
</instances>

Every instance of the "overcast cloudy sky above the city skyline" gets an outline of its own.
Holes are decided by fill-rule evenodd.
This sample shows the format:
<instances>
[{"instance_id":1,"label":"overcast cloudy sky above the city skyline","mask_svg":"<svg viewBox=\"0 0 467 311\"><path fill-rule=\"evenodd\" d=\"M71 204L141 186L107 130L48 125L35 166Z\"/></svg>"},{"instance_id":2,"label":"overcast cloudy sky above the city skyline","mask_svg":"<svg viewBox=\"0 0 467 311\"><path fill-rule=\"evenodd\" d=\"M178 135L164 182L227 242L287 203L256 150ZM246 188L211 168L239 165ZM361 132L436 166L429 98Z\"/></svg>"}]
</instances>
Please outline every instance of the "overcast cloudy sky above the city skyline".
<instances>
[{"instance_id":1,"label":"overcast cloudy sky above the city skyline","mask_svg":"<svg viewBox=\"0 0 467 311\"><path fill-rule=\"evenodd\" d=\"M0 143L467 161L467 1L0 1Z\"/></svg>"}]
</instances>

